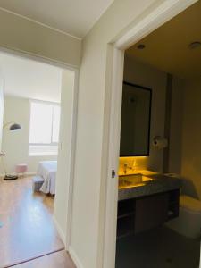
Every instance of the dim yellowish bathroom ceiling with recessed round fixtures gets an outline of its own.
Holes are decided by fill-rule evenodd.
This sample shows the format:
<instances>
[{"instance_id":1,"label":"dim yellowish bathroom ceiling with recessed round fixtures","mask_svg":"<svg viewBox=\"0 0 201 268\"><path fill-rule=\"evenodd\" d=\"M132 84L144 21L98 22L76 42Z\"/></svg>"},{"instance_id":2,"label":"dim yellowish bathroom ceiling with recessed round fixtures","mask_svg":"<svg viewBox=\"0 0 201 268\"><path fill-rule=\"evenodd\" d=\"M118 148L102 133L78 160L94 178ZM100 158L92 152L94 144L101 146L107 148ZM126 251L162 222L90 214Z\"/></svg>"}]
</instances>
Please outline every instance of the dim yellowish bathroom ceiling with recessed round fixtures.
<instances>
[{"instance_id":1,"label":"dim yellowish bathroom ceiling with recessed round fixtures","mask_svg":"<svg viewBox=\"0 0 201 268\"><path fill-rule=\"evenodd\" d=\"M131 46L126 54L179 78L195 78L201 76L201 46L188 47L195 41L201 42L201 0ZM146 47L138 49L140 44Z\"/></svg>"}]
</instances>

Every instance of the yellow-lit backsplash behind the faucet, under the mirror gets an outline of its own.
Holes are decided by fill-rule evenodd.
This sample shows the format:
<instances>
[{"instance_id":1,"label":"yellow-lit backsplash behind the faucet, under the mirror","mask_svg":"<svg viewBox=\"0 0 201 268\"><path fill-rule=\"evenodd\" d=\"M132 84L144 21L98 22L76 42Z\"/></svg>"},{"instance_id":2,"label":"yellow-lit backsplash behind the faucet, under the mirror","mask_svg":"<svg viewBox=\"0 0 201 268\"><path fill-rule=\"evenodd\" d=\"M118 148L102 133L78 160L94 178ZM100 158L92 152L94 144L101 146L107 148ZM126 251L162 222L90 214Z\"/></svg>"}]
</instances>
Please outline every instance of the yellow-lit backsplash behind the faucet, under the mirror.
<instances>
[{"instance_id":1,"label":"yellow-lit backsplash behind the faucet, under the mirror","mask_svg":"<svg viewBox=\"0 0 201 268\"><path fill-rule=\"evenodd\" d=\"M124 164L127 163L127 174L133 174L139 170L147 170L147 156L120 157L119 175L124 175Z\"/></svg>"}]
</instances>

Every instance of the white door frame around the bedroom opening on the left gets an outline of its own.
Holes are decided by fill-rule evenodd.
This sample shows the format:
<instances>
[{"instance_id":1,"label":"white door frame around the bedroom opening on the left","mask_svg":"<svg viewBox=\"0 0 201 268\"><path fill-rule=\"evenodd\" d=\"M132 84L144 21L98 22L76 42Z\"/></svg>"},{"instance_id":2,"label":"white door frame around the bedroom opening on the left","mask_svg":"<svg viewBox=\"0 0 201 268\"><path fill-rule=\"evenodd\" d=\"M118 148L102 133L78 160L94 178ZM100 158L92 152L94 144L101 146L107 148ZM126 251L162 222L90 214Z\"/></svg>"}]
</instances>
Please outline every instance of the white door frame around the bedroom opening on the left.
<instances>
[{"instance_id":1,"label":"white door frame around the bedroom opening on the left","mask_svg":"<svg viewBox=\"0 0 201 268\"><path fill-rule=\"evenodd\" d=\"M18 51L14 49L10 49L7 47L0 46L0 51L5 54L13 54L15 56L26 58L29 60L33 60L39 63L46 63L49 65L53 65L55 67L59 67L63 70L74 72L74 97L73 97L73 111L72 111L72 126L71 126L71 147L69 150L71 151L71 168L69 171L69 192L68 197L68 211L63 212L66 213L67 219L67 227L66 227L66 237L63 238L63 233L60 230L60 227L55 222L56 228L61 235L61 238L64 239L63 243L65 245L65 249L68 251L71 241L71 214L72 214L72 193L73 193L73 180L74 180L74 165L75 165L75 148L76 148L76 137L77 137L77 111L78 111L78 91L79 91L79 67L74 67L70 64L54 61L53 59L49 59L40 55L30 54L28 52Z\"/></svg>"}]
</instances>

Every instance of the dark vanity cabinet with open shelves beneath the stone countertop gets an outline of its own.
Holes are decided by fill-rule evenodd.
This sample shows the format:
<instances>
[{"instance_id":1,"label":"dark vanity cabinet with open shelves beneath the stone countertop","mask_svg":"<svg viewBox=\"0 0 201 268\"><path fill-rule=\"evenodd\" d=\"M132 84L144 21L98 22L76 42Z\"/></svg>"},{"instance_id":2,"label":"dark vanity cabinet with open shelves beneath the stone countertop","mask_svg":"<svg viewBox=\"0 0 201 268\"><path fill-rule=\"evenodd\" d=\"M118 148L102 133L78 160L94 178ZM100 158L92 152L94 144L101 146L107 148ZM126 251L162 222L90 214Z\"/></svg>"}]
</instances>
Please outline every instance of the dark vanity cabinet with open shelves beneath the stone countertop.
<instances>
[{"instance_id":1,"label":"dark vanity cabinet with open shelves beneath the stone countertop","mask_svg":"<svg viewBox=\"0 0 201 268\"><path fill-rule=\"evenodd\" d=\"M117 238L138 234L179 215L180 190L118 202Z\"/></svg>"}]
</instances>

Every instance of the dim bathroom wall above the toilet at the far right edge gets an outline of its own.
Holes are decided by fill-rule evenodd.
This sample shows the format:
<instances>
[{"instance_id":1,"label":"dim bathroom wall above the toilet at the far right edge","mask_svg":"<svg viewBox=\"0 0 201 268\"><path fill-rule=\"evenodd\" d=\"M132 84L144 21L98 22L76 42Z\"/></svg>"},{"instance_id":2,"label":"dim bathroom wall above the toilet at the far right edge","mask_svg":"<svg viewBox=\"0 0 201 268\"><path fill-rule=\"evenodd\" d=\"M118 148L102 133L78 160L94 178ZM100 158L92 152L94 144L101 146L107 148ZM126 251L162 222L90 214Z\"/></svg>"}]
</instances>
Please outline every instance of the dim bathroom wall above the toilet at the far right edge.
<instances>
[{"instance_id":1,"label":"dim bathroom wall above the toilet at the far right edge","mask_svg":"<svg viewBox=\"0 0 201 268\"><path fill-rule=\"evenodd\" d=\"M184 84L181 174L192 181L189 194L201 199L201 79ZM190 190L190 188L189 188Z\"/></svg>"}]
</instances>

